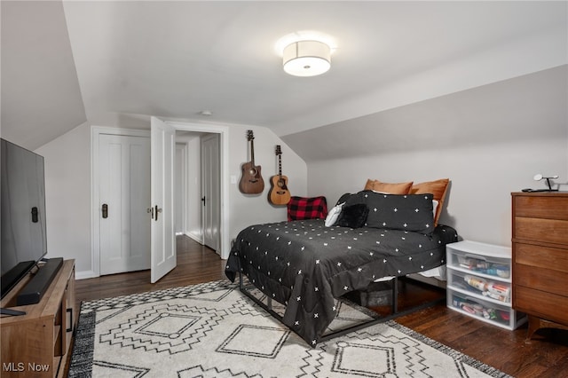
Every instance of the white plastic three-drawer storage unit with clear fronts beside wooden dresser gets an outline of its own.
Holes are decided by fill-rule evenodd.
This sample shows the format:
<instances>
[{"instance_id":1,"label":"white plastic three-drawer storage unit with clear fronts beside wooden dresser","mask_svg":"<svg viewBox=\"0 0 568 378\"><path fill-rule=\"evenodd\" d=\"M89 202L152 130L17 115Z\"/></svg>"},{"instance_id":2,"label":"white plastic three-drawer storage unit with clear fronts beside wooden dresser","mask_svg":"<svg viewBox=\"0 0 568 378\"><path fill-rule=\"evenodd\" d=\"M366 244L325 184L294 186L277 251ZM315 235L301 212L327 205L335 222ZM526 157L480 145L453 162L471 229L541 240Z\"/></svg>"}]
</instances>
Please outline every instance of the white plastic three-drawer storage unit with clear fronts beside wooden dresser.
<instances>
[{"instance_id":1,"label":"white plastic three-drawer storage unit with clear fronts beside wooden dresser","mask_svg":"<svg viewBox=\"0 0 568 378\"><path fill-rule=\"evenodd\" d=\"M463 240L446 245L447 307L497 327L526 316L512 308L511 248Z\"/></svg>"}]
</instances>

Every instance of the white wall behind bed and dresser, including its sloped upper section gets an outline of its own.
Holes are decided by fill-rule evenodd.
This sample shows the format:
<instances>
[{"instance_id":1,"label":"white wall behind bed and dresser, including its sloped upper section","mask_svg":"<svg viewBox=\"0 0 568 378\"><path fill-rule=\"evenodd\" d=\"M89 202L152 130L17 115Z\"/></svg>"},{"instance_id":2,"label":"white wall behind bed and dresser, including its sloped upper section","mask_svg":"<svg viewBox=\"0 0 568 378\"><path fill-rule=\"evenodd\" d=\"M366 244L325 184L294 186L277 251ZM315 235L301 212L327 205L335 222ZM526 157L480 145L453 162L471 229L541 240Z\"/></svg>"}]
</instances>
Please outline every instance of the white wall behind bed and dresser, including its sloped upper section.
<instances>
[{"instance_id":1,"label":"white wall behind bed and dresser, including its sloped upper section","mask_svg":"<svg viewBox=\"0 0 568 378\"><path fill-rule=\"evenodd\" d=\"M448 177L440 222L463 239L509 246L511 192L545 188L533 181L537 173L559 175L555 186L568 190L567 71L557 67L285 139L300 149L311 141L310 195L335 203L363 189L367 178ZM341 157L326 159L312 133L327 143L343 138L344 146L330 152Z\"/></svg>"}]
</instances>

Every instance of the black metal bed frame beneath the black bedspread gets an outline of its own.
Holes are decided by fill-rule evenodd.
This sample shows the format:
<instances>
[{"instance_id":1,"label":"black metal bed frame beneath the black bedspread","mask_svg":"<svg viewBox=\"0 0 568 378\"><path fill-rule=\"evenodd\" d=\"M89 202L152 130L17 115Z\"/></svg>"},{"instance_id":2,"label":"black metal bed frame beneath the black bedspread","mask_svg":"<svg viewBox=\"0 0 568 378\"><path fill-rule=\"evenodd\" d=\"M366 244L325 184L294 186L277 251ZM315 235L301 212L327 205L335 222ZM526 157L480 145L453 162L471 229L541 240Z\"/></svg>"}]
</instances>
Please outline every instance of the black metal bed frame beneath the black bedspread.
<instances>
[{"instance_id":1,"label":"black metal bed frame beneath the black bedspread","mask_svg":"<svg viewBox=\"0 0 568 378\"><path fill-rule=\"evenodd\" d=\"M403 279L403 280L406 280L406 277L400 277L400 278ZM339 337L339 336L342 336L342 335L346 335L350 332L357 331L359 329L374 326L375 324L378 324L378 323L384 323L388 320L396 319L398 317L413 313L415 311L421 311L421 310L429 308L429 307L431 307L431 306L433 306L437 303L446 301L446 296L444 295L443 297L432 300L430 302L418 304L418 305L411 307L411 308L408 308L404 311L398 311L398 279L399 279L399 277L393 277L390 280L384 281L384 282L390 282L390 286L391 286L391 289L390 289L390 293L391 293L390 311L391 312L390 312L389 315L380 316L379 314L374 312L374 315L376 316L375 319L371 319L371 320L356 324L356 325L351 326L351 327L345 327L345 328L339 329L337 331L332 331L332 332L329 332L327 334L324 334L319 338L319 343L326 342L327 340L330 340L330 339L333 339L335 337ZM243 274L242 274L242 272L239 272L239 290L241 290L241 293L243 293L244 295L247 295L253 302L255 302L260 307L262 307L265 311L270 313L273 318L279 320L280 323L282 323L284 326L286 326L283 322L283 317L278 312L276 312L272 309L272 298L270 296L266 295L265 296L266 303L264 303L261 299L256 297L256 295L253 295L250 292L251 289L257 289L258 290L258 288L255 287L253 284L248 283L248 285L245 285L245 283L243 281ZM339 299L339 298L336 298L336 299L341 301L341 299ZM369 310L369 311L371 311L371 310ZM371 311L371 312L373 312L373 311ZM286 326L286 327L288 327L288 326ZM316 345L312 345L312 346L315 348Z\"/></svg>"}]
</instances>

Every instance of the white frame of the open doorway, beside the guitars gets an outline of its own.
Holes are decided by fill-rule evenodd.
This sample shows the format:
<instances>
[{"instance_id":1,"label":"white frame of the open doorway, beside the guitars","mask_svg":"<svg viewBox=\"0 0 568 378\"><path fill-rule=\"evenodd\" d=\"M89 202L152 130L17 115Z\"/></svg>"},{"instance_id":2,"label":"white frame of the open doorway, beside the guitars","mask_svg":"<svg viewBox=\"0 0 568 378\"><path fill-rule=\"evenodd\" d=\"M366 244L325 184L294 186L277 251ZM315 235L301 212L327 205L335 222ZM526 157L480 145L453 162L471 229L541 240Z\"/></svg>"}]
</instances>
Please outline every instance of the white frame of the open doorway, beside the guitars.
<instances>
[{"instance_id":1,"label":"white frame of the open doorway, beside the guitars","mask_svg":"<svg viewBox=\"0 0 568 378\"><path fill-rule=\"evenodd\" d=\"M191 123L191 122L173 122L167 121L171 127L176 130L185 130L185 131L197 131L197 132L207 132L211 134L219 134L219 145L220 145L220 197L221 203L219 204L220 208L220 223L219 223L219 233L220 233L220 242L221 245L219 246L219 252L222 259L226 260L229 258L231 253L231 242L230 242L230 235L229 235L229 214L228 214L228 207L229 207L229 127L221 126L221 125L212 125L212 124L199 124L199 123Z\"/></svg>"}]
</instances>

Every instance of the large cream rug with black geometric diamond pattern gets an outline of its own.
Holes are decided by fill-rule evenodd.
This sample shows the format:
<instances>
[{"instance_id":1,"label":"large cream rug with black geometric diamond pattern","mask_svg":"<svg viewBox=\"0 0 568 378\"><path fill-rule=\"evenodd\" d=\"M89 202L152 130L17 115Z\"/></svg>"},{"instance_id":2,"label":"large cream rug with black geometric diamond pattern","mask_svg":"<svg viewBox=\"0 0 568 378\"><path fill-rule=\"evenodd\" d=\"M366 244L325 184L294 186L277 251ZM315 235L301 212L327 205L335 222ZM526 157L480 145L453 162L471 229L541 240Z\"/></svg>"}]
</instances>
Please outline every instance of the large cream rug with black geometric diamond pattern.
<instances>
[{"instance_id":1,"label":"large cream rug with black geometric diamond pattern","mask_svg":"<svg viewBox=\"0 0 568 378\"><path fill-rule=\"evenodd\" d=\"M337 308L332 328L368 319L352 303ZM509 375L392 320L312 348L222 280L82 303L68 376Z\"/></svg>"}]
</instances>

